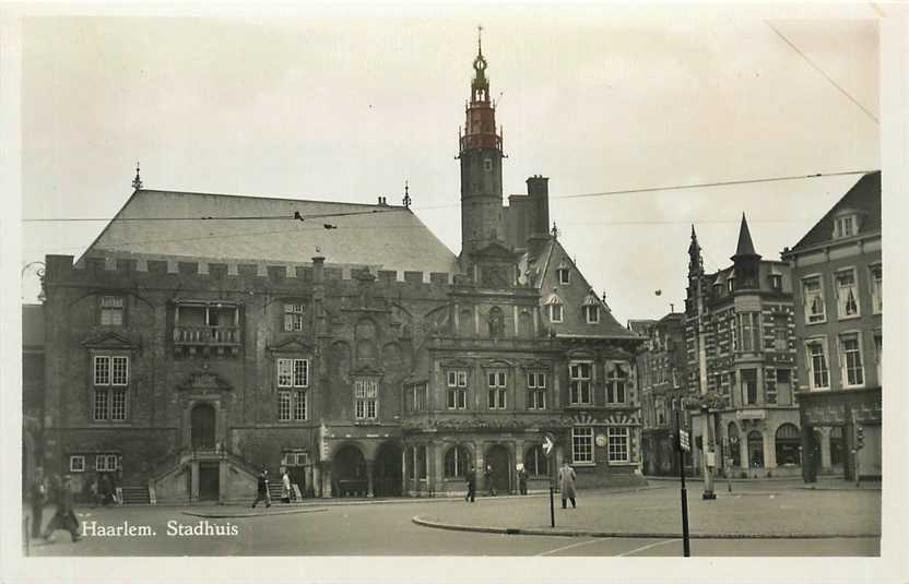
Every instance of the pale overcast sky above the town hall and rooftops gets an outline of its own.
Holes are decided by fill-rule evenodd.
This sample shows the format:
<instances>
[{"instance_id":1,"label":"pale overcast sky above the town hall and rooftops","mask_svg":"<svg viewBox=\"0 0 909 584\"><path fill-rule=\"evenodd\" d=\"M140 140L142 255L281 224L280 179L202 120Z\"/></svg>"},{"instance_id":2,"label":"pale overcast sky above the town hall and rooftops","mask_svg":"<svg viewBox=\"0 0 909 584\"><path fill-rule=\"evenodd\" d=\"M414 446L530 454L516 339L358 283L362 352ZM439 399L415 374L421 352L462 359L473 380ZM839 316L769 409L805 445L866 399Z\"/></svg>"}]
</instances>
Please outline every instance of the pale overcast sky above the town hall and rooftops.
<instances>
[{"instance_id":1,"label":"pale overcast sky above the town hall and rooftops","mask_svg":"<svg viewBox=\"0 0 909 584\"><path fill-rule=\"evenodd\" d=\"M29 219L109 219L137 160L178 191L400 203L406 180L458 253L480 24L505 198L550 177L559 239L622 323L684 307L692 224L708 270L742 213L778 260L859 176L572 195L881 168L873 4L129 10L23 21L22 265L78 258L103 221Z\"/></svg>"}]
</instances>

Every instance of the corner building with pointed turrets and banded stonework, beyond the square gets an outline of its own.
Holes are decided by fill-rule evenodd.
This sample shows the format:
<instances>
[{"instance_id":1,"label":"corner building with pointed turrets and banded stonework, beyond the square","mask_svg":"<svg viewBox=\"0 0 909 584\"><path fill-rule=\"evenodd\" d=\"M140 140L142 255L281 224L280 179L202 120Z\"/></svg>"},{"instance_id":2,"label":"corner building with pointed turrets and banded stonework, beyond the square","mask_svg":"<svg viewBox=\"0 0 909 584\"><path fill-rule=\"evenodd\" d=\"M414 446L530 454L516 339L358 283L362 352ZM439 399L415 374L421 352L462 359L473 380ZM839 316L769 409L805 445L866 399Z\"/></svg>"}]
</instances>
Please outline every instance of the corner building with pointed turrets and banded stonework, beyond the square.
<instances>
[{"instance_id":1,"label":"corner building with pointed turrets and banded stonework, beyond the square","mask_svg":"<svg viewBox=\"0 0 909 584\"><path fill-rule=\"evenodd\" d=\"M698 388L701 404L710 404L694 413L694 455L706 455L708 466L732 477L798 475L801 433L789 264L755 252L744 215L731 266L705 273L694 228L688 255L688 382ZM706 437L701 416L710 419Z\"/></svg>"}]
</instances>

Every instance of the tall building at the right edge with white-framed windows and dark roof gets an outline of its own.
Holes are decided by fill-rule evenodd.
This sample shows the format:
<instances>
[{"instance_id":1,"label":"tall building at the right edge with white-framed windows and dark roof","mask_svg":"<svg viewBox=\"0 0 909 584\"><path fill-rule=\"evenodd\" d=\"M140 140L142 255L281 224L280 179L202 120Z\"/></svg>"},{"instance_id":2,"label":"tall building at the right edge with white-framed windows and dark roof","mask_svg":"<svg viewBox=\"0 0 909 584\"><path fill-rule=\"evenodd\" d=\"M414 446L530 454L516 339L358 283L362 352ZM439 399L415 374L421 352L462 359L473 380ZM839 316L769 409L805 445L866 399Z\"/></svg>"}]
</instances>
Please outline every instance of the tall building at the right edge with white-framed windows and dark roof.
<instances>
[{"instance_id":1,"label":"tall building at the right edge with white-framed windows and dark roof","mask_svg":"<svg viewBox=\"0 0 909 584\"><path fill-rule=\"evenodd\" d=\"M863 176L783 259L799 295L803 476L806 481L819 474L880 478L881 172Z\"/></svg>"}]
</instances>

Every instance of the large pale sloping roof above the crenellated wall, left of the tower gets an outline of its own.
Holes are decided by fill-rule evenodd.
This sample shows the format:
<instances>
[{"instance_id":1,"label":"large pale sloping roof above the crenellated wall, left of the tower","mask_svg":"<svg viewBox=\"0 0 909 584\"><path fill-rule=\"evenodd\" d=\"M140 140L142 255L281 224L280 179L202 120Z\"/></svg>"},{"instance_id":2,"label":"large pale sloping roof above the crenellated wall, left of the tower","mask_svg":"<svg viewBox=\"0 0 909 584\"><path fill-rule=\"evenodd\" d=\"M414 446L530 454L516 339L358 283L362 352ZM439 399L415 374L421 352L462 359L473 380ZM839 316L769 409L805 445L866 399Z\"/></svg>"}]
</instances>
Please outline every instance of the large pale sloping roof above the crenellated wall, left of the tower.
<instances>
[{"instance_id":1,"label":"large pale sloping roof above the crenellated wall, left of the tower","mask_svg":"<svg viewBox=\"0 0 909 584\"><path fill-rule=\"evenodd\" d=\"M451 250L402 206L157 190L135 191L83 258L98 252L287 263L320 254L329 264L456 271Z\"/></svg>"}]
</instances>

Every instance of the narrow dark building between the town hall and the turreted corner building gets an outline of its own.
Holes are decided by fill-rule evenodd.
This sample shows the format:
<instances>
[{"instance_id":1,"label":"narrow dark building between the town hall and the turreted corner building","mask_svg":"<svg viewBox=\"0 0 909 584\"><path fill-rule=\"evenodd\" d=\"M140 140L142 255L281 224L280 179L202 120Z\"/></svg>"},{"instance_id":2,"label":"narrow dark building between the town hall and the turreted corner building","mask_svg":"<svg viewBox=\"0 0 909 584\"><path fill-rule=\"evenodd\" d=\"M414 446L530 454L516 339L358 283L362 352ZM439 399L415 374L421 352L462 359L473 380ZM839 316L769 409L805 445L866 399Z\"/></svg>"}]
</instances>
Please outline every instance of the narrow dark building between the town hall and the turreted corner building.
<instances>
[{"instance_id":1,"label":"narrow dark building between the town hall and the turreted corner building","mask_svg":"<svg viewBox=\"0 0 909 584\"><path fill-rule=\"evenodd\" d=\"M638 324L640 326L640 324ZM641 408L641 466L647 475L678 476L678 424L690 428L685 314L671 312L644 325L646 341L635 358ZM692 472L690 453L683 458Z\"/></svg>"}]
</instances>

